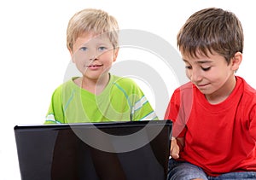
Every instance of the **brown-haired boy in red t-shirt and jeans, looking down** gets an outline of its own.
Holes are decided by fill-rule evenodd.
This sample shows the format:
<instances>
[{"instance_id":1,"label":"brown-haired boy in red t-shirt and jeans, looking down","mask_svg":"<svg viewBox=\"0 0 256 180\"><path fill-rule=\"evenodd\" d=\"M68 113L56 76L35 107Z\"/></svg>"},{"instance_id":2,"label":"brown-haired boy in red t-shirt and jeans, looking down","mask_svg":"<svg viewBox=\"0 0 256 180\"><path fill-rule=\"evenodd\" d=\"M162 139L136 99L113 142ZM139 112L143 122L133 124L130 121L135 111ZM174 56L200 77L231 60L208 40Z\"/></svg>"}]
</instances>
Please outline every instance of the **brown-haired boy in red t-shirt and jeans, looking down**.
<instances>
[{"instance_id":1,"label":"brown-haired boy in red t-shirt and jeans, looking down","mask_svg":"<svg viewBox=\"0 0 256 180\"><path fill-rule=\"evenodd\" d=\"M236 15L201 9L177 34L190 82L174 91L168 179L256 179L256 90L235 75L243 31Z\"/></svg>"}]
</instances>

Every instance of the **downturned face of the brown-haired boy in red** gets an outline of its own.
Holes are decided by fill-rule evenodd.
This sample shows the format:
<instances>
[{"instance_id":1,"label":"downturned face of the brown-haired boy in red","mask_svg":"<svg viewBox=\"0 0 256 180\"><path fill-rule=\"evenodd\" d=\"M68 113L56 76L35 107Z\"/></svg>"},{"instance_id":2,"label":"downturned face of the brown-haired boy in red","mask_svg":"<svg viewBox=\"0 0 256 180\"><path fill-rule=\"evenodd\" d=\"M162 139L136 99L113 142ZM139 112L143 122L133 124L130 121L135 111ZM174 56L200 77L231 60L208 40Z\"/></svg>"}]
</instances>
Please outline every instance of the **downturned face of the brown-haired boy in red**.
<instances>
[{"instance_id":1,"label":"downturned face of the brown-haired boy in red","mask_svg":"<svg viewBox=\"0 0 256 180\"><path fill-rule=\"evenodd\" d=\"M235 71L241 62L241 53L235 55L228 65L224 56L218 54L183 55L186 75L207 99L221 100L230 95L236 85Z\"/></svg>"}]
</instances>

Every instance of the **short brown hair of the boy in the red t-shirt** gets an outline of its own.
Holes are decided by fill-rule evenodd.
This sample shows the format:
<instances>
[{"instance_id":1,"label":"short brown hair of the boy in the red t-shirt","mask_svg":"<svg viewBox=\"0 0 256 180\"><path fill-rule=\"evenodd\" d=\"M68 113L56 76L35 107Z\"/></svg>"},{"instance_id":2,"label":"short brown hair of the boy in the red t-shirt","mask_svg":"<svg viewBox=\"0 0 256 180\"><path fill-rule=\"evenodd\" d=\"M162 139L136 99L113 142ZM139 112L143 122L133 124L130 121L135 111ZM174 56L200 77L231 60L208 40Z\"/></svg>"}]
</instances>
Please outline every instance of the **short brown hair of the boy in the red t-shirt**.
<instances>
[{"instance_id":1,"label":"short brown hair of the boy in the red t-shirt","mask_svg":"<svg viewBox=\"0 0 256 180\"><path fill-rule=\"evenodd\" d=\"M217 8L201 9L186 20L177 33L177 47L185 55L196 57L215 51L230 59L243 49L240 20L229 11Z\"/></svg>"}]
</instances>

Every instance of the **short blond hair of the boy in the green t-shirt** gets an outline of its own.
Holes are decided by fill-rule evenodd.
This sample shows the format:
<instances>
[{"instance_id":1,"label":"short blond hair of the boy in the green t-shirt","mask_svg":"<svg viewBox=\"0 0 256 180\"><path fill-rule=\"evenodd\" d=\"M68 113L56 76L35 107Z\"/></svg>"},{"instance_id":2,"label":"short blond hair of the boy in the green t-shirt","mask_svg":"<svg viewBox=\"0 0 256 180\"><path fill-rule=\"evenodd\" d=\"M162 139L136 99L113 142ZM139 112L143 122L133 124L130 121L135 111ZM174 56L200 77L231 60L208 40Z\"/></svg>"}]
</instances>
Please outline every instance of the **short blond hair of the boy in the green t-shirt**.
<instances>
[{"instance_id":1,"label":"short blond hair of the boy in the green t-shirt","mask_svg":"<svg viewBox=\"0 0 256 180\"><path fill-rule=\"evenodd\" d=\"M84 32L100 35L107 33L113 48L119 46L119 25L117 20L101 9L83 9L73 15L67 26L67 49L73 50L73 44Z\"/></svg>"}]
</instances>

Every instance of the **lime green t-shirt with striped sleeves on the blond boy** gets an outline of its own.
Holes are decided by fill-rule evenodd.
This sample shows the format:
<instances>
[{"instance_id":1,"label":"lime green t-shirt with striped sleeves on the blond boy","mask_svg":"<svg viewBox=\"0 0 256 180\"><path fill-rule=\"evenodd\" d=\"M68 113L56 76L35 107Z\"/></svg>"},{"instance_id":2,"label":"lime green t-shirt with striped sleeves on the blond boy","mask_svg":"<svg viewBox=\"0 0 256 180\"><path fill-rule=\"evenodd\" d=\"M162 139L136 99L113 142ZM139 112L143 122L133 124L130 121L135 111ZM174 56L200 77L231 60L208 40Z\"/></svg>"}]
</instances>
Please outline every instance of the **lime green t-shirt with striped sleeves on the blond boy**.
<instances>
[{"instance_id":1,"label":"lime green t-shirt with striped sleeves on the blond boy","mask_svg":"<svg viewBox=\"0 0 256 180\"><path fill-rule=\"evenodd\" d=\"M98 96L80 88L73 79L54 91L44 124L158 119L131 78L111 75Z\"/></svg>"}]
</instances>

